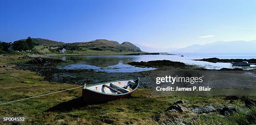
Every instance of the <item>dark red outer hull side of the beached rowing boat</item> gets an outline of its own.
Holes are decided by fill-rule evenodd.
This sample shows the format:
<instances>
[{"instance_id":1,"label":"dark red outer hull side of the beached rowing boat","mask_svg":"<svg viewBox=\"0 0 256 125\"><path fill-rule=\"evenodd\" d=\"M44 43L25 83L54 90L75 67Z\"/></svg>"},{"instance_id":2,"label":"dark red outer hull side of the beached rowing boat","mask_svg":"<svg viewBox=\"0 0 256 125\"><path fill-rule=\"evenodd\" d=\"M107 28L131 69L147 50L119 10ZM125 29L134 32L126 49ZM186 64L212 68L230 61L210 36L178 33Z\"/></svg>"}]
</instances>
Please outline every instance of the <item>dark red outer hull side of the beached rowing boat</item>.
<instances>
[{"instance_id":1,"label":"dark red outer hull side of the beached rowing boat","mask_svg":"<svg viewBox=\"0 0 256 125\"><path fill-rule=\"evenodd\" d=\"M133 92L134 91L129 92L127 94L113 95L113 94L102 94L102 93L94 92L88 89L83 89L82 96L84 100L88 103L97 103L97 102L108 102L108 101L124 98L131 95Z\"/></svg>"}]
</instances>

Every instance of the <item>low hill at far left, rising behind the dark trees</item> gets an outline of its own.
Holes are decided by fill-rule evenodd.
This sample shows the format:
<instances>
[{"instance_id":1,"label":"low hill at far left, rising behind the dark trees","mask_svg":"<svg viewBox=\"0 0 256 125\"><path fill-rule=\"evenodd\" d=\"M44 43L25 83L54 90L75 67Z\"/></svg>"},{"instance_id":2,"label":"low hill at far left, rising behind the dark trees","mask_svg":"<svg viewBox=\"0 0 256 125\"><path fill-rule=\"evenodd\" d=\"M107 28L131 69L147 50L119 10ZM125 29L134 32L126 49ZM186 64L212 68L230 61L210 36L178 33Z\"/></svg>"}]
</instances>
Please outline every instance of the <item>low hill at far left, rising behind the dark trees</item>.
<instances>
[{"instance_id":1,"label":"low hill at far left, rising behind the dark trees","mask_svg":"<svg viewBox=\"0 0 256 125\"><path fill-rule=\"evenodd\" d=\"M25 40L26 39L21 39L20 41L25 41ZM56 45L64 44L63 42L52 41L44 38L32 38L32 40L38 45L56 46Z\"/></svg>"}]
</instances>

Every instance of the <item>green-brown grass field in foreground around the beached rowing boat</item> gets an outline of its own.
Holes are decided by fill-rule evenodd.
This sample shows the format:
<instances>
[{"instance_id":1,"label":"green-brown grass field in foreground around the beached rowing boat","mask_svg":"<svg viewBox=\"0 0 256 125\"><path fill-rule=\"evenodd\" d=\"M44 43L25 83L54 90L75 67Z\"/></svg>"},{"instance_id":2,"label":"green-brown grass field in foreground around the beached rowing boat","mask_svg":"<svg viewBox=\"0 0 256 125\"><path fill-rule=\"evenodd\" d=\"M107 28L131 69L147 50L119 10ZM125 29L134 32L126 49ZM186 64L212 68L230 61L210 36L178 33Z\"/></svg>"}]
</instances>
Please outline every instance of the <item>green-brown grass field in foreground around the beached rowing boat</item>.
<instances>
[{"instance_id":1,"label":"green-brown grass field in foreground around the beached rowing boat","mask_svg":"<svg viewBox=\"0 0 256 125\"><path fill-rule=\"evenodd\" d=\"M18 56L0 59L0 66L9 62L28 61ZM46 82L34 72L17 70L8 65L0 68L0 103L36 95L79 87L74 84ZM209 96L152 96L151 89L138 89L131 97L103 104L88 105L83 102L82 89L69 90L43 97L27 99L0 105L0 117L25 116L26 124L177 124L175 118L181 118L190 125L249 125L256 123L256 108L236 112L223 117L217 112L195 114L192 112L171 114L165 110L177 100L183 99L182 106L189 110L195 106L233 106L245 107L241 100L227 103L225 97ZM158 118L156 118L158 117ZM158 120L156 120L158 119ZM1 124L1 123L0 123ZM25 124L25 123L23 123Z\"/></svg>"}]
</instances>

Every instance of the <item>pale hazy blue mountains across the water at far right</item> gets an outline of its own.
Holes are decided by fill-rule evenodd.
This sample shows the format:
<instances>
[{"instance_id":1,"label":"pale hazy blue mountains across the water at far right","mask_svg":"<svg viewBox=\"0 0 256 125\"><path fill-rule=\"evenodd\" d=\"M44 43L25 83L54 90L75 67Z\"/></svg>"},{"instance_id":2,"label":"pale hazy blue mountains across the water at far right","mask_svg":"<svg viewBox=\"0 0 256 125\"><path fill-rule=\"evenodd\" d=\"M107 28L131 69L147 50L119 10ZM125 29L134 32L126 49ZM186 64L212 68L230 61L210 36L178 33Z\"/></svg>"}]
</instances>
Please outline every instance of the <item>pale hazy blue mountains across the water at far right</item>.
<instances>
[{"instance_id":1,"label":"pale hazy blue mountains across the water at far right","mask_svg":"<svg viewBox=\"0 0 256 125\"><path fill-rule=\"evenodd\" d=\"M256 53L256 40L254 41L216 41L205 45L194 44L185 48L171 51L173 53Z\"/></svg>"}]
</instances>

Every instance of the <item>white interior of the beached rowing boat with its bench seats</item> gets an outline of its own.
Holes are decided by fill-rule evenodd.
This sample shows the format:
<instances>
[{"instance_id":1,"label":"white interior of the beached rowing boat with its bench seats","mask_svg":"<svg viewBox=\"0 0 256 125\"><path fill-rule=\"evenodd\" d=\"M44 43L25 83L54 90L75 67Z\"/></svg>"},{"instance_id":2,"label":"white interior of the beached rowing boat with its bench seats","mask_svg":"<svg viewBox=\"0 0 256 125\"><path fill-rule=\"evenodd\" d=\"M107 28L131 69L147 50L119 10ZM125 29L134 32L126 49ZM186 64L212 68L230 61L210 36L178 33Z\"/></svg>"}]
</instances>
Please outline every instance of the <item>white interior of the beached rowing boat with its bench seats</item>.
<instances>
[{"instance_id":1,"label":"white interior of the beached rowing boat with its bench seats","mask_svg":"<svg viewBox=\"0 0 256 125\"><path fill-rule=\"evenodd\" d=\"M138 86L138 79L127 79L116 82L109 82L105 84L97 84L90 87L85 87L96 92L107 94L123 94L133 91Z\"/></svg>"}]
</instances>

